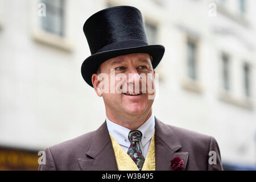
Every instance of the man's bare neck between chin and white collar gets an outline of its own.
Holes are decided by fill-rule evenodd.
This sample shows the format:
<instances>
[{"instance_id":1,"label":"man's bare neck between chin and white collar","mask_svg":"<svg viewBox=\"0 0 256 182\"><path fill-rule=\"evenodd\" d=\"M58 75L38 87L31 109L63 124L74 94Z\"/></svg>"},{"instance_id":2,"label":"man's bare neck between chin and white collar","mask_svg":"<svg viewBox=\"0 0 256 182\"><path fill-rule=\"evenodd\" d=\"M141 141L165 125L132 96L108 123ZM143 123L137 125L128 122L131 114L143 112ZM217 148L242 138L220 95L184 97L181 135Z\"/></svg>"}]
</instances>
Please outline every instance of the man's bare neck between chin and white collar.
<instances>
[{"instance_id":1,"label":"man's bare neck between chin and white collar","mask_svg":"<svg viewBox=\"0 0 256 182\"><path fill-rule=\"evenodd\" d=\"M118 115L114 115L106 111L106 116L110 121L116 123L117 125L121 125L126 127L129 130L137 130L144 122L147 121L148 118L151 117L152 108L147 112L140 115L131 115L130 117L119 117Z\"/></svg>"}]
</instances>

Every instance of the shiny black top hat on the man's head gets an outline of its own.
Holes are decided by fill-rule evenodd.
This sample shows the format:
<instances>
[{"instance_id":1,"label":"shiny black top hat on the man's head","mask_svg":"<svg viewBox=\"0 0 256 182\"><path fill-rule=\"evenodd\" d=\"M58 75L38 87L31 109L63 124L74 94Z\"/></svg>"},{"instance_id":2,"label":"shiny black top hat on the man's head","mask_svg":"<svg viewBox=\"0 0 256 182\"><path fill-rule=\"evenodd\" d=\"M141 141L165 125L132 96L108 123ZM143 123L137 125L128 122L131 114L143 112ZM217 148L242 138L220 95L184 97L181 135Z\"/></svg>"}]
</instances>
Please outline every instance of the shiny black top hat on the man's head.
<instances>
[{"instance_id":1,"label":"shiny black top hat on the man's head","mask_svg":"<svg viewBox=\"0 0 256 182\"><path fill-rule=\"evenodd\" d=\"M129 53L148 53L155 69L164 55L162 45L148 45L141 11L132 6L115 6L98 11L84 23L84 34L91 56L81 67L82 77L90 85L92 75L104 61Z\"/></svg>"}]
</instances>

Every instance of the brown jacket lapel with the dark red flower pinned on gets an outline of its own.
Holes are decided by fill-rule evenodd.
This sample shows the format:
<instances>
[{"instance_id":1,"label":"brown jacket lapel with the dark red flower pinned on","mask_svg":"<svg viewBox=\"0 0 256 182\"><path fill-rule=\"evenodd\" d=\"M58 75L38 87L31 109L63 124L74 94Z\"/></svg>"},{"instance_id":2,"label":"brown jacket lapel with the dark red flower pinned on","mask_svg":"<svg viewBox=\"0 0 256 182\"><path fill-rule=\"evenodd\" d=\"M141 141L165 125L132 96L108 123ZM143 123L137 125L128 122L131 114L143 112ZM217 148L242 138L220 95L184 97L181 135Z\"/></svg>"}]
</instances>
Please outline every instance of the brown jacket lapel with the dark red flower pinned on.
<instances>
[{"instance_id":1,"label":"brown jacket lapel with the dark red flower pinned on","mask_svg":"<svg viewBox=\"0 0 256 182\"><path fill-rule=\"evenodd\" d=\"M181 144L171 129L155 118L155 169L156 171L172 170L170 163L175 157L184 162L184 169L188 162L188 152L176 152ZM183 170L184 170L183 169Z\"/></svg>"}]
</instances>

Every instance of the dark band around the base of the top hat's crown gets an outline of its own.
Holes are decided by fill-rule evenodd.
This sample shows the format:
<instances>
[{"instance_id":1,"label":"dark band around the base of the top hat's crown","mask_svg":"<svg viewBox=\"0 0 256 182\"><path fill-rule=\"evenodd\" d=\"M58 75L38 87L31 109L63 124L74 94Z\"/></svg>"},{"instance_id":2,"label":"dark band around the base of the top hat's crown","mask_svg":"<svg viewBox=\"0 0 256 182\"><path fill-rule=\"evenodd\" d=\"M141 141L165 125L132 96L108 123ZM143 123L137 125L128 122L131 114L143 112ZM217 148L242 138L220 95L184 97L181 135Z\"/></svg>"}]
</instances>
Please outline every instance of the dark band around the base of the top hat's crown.
<instances>
[{"instance_id":1,"label":"dark band around the base of the top hat's crown","mask_svg":"<svg viewBox=\"0 0 256 182\"><path fill-rule=\"evenodd\" d=\"M133 48L139 46L148 46L148 43L143 42L141 40L132 39L132 40L123 40L119 42L114 42L112 44L108 44L107 46L102 47L96 53L104 52L104 51L112 51L115 49L124 49L124 48Z\"/></svg>"}]
</instances>

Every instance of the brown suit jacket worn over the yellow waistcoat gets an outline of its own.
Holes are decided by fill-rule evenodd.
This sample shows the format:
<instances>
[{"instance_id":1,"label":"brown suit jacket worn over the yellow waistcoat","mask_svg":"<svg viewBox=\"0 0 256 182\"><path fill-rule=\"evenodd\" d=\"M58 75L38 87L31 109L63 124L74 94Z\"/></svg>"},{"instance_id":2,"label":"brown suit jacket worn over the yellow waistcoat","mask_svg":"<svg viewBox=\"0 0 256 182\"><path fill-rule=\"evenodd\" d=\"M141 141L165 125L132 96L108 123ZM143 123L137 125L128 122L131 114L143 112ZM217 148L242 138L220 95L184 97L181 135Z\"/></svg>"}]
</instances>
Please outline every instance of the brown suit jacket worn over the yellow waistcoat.
<instances>
[{"instance_id":1,"label":"brown suit jacket worn over the yellow waistcoat","mask_svg":"<svg viewBox=\"0 0 256 182\"><path fill-rule=\"evenodd\" d=\"M208 162L215 151L216 164ZM46 164L39 170L118 170L106 122L75 139L45 150ZM170 171L171 159L179 157L185 170L223 170L216 140L208 135L166 125L155 118L155 169Z\"/></svg>"}]
</instances>

